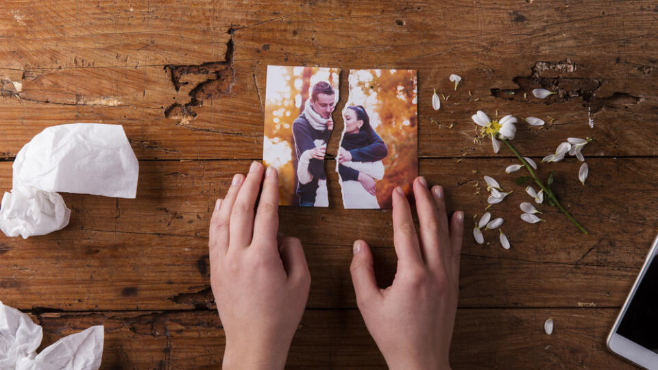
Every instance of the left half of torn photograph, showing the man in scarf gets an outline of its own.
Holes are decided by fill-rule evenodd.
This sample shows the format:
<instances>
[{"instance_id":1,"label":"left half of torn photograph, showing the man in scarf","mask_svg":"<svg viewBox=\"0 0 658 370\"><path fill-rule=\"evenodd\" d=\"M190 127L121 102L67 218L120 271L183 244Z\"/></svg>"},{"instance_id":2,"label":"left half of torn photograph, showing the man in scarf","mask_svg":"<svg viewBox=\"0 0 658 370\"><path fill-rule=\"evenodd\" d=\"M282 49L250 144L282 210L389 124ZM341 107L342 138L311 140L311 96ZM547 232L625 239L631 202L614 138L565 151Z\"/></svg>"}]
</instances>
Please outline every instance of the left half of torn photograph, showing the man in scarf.
<instances>
[{"instance_id":1,"label":"left half of torn photograph, showing the man in scarf","mask_svg":"<svg viewBox=\"0 0 658 370\"><path fill-rule=\"evenodd\" d=\"M263 164L279 172L281 206L328 207L324 171L337 68L267 66Z\"/></svg>"}]
</instances>

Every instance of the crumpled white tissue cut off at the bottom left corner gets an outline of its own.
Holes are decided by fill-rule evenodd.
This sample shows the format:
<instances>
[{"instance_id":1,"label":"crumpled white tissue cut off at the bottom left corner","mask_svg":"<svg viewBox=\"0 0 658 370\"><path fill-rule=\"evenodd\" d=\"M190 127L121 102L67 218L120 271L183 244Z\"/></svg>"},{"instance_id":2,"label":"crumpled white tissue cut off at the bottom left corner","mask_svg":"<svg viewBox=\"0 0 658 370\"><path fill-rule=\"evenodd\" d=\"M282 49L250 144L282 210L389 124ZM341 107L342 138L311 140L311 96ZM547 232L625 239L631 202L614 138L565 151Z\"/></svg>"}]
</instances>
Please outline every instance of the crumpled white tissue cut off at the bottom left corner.
<instances>
[{"instance_id":1,"label":"crumpled white tissue cut off at the bottom left corner","mask_svg":"<svg viewBox=\"0 0 658 370\"><path fill-rule=\"evenodd\" d=\"M0 301L0 369L97 370L103 357L103 325L64 336L36 354L40 325Z\"/></svg>"}]
</instances>

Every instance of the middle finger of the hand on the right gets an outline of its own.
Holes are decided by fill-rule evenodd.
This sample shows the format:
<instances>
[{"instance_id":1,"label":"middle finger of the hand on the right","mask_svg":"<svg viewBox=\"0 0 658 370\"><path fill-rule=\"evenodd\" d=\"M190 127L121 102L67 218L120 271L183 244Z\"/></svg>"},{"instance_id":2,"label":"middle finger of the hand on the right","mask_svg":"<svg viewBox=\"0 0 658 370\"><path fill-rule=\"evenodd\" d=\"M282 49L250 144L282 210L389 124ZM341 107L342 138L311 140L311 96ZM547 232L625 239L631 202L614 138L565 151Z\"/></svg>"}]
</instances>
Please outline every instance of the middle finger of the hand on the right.
<instances>
[{"instance_id":1,"label":"middle finger of the hand on the right","mask_svg":"<svg viewBox=\"0 0 658 370\"><path fill-rule=\"evenodd\" d=\"M437 187L435 186L435 190ZM416 177L413 182L413 195L416 199L416 212L420 224L420 248L422 254L430 266L437 266L445 254L441 248L449 249L448 224L439 222L437 204L435 198L427 188L425 177ZM443 211L445 212L445 210ZM443 242L443 243L442 243Z\"/></svg>"}]
</instances>

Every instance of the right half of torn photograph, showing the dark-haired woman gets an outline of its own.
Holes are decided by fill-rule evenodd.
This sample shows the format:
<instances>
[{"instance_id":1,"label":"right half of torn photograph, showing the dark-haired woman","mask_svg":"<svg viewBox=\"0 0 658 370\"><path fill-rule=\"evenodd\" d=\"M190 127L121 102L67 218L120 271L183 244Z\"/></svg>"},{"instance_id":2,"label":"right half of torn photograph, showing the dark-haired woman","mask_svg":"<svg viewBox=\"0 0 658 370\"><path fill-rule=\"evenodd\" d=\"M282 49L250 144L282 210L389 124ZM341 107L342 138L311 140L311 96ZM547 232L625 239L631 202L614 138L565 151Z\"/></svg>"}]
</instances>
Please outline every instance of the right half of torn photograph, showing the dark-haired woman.
<instances>
[{"instance_id":1,"label":"right half of torn photograph, showing the dark-haired woman","mask_svg":"<svg viewBox=\"0 0 658 370\"><path fill-rule=\"evenodd\" d=\"M415 70L350 71L337 155L344 208L391 208L392 192L409 195L418 175Z\"/></svg>"}]
</instances>

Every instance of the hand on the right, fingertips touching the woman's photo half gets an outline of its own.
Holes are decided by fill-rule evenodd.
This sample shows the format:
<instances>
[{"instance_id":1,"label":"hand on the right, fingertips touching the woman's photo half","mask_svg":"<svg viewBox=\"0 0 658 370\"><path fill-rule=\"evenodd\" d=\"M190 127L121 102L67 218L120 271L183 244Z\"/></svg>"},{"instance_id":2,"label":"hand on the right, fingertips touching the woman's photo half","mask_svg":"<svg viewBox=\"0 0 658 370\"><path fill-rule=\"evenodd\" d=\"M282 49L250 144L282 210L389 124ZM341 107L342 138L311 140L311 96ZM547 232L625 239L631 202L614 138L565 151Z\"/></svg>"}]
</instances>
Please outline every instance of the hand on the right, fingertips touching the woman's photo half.
<instances>
[{"instance_id":1,"label":"hand on the right, fingertips touching the woman's photo half","mask_svg":"<svg viewBox=\"0 0 658 370\"><path fill-rule=\"evenodd\" d=\"M450 369L464 214L454 212L448 227L443 188L430 194L426 184L424 177L413 182L420 243L409 201L401 188L393 190L398 271L391 286L378 288L368 245L354 242L356 304L390 369Z\"/></svg>"}]
</instances>

